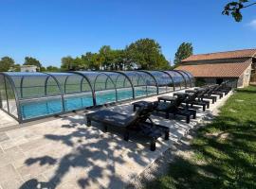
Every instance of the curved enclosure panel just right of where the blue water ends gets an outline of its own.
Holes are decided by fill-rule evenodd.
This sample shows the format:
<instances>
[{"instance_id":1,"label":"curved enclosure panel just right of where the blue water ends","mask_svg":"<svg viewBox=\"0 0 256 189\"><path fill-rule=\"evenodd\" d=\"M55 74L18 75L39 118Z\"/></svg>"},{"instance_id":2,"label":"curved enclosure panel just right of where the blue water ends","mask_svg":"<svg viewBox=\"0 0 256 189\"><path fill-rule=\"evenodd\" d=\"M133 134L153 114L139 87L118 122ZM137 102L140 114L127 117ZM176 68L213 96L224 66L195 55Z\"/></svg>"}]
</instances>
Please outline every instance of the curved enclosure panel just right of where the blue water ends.
<instances>
[{"instance_id":1,"label":"curved enclosure panel just right of where the blue water ends","mask_svg":"<svg viewBox=\"0 0 256 189\"><path fill-rule=\"evenodd\" d=\"M147 71L147 72L149 72L155 77L158 85L159 94L174 91L173 80L168 74L160 71Z\"/></svg>"}]
</instances>

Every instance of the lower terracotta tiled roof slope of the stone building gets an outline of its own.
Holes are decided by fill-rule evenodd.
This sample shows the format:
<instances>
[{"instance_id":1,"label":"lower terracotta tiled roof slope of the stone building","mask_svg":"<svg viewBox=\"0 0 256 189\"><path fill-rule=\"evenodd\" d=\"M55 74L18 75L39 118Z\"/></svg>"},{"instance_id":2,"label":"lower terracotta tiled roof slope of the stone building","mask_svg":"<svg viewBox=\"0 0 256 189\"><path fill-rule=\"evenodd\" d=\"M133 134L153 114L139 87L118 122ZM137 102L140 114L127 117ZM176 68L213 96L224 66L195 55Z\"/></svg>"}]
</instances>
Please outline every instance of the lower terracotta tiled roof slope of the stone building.
<instances>
[{"instance_id":1,"label":"lower terracotta tiled roof slope of the stone building","mask_svg":"<svg viewBox=\"0 0 256 189\"><path fill-rule=\"evenodd\" d=\"M250 64L251 61L247 60L236 63L180 65L176 69L188 71L193 77L240 77Z\"/></svg>"}]
</instances>

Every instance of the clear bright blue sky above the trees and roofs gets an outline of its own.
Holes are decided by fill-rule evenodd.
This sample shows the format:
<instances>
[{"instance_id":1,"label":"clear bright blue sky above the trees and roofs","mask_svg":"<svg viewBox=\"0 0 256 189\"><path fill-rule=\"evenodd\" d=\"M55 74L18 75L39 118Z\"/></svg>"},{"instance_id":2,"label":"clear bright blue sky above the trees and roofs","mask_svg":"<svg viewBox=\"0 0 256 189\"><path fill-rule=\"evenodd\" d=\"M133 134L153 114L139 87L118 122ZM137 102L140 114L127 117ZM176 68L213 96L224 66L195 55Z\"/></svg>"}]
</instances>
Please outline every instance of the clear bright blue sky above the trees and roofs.
<instances>
[{"instance_id":1,"label":"clear bright blue sky above the trees and roofs","mask_svg":"<svg viewBox=\"0 0 256 189\"><path fill-rule=\"evenodd\" d=\"M256 47L256 6L236 23L221 14L231 0L0 0L0 58L26 56L60 66L64 56L124 48L151 38L174 60L180 43L193 53Z\"/></svg>"}]
</instances>

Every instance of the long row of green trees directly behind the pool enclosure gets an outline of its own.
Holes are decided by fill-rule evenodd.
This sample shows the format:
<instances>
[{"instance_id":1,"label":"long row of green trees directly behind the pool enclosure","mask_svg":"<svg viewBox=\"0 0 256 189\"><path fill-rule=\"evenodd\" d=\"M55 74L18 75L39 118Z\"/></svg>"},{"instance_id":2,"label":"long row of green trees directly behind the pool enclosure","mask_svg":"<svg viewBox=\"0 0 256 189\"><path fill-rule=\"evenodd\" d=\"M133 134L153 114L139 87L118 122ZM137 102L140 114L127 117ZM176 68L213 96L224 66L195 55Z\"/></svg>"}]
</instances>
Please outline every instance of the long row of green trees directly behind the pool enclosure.
<instances>
[{"instance_id":1,"label":"long row of green trees directly behind the pool enclosure","mask_svg":"<svg viewBox=\"0 0 256 189\"><path fill-rule=\"evenodd\" d=\"M136 66L134 66L136 65ZM101 46L98 53L86 52L81 57L64 57L62 70L130 70L169 69L170 65L161 53L158 43L150 39L141 39L126 46L125 49L112 49Z\"/></svg>"}]
</instances>

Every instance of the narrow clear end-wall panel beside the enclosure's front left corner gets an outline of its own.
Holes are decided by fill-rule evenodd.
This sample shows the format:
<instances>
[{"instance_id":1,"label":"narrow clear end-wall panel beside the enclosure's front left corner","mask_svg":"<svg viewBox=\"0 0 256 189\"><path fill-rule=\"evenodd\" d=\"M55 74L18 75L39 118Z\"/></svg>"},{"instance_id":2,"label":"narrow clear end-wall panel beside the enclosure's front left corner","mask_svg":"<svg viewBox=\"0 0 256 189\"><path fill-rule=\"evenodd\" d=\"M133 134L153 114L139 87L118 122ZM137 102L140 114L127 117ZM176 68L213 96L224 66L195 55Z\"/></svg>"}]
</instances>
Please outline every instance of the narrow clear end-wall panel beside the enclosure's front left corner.
<instances>
[{"instance_id":1,"label":"narrow clear end-wall panel beside the enclosure's front left corner","mask_svg":"<svg viewBox=\"0 0 256 189\"><path fill-rule=\"evenodd\" d=\"M12 91L12 88L9 84L9 79L6 79L6 85L7 85L7 94L8 94L8 103L9 103L9 113L14 115L15 117L18 117L15 94Z\"/></svg>"}]
</instances>

